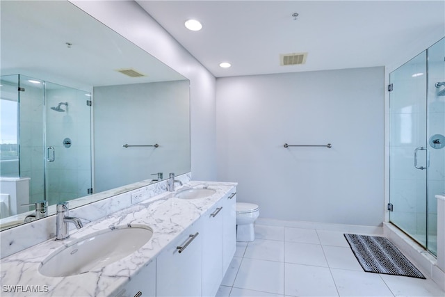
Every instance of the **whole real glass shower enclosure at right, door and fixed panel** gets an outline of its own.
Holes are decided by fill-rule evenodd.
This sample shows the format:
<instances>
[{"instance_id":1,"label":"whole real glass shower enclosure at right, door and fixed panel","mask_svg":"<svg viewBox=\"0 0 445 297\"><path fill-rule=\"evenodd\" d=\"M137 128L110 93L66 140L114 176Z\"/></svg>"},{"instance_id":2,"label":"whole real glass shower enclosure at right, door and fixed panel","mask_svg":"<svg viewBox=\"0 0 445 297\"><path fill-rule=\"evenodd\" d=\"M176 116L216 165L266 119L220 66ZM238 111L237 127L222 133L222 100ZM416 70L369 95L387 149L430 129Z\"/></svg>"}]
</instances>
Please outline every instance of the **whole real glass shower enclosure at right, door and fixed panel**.
<instances>
[{"instance_id":1,"label":"whole real glass shower enclosure at right, door and fixed panel","mask_svg":"<svg viewBox=\"0 0 445 297\"><path fill-rule=\"evenodd\" d=\"M389 220L437 255L445 193L445 38L389 74Z\"/></svg>"}]
</instances>

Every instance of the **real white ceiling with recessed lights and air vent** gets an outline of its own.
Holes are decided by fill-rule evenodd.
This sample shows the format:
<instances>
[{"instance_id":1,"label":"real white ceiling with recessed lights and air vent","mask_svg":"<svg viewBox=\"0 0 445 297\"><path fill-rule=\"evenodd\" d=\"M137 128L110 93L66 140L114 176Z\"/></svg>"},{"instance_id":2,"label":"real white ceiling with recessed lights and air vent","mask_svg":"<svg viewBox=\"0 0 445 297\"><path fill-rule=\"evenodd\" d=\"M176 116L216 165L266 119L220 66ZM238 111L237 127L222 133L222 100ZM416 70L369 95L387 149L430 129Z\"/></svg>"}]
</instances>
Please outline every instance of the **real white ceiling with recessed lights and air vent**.
<instances>
[{"instance_id":1,"label":"real white ceiling with recessed lights and air vent","mask_svg":"<svg viewBox=\"0 0 445 297\"><path fill-rule=\"evenodd\" d=\"M416 39L445 35L445 1L137 2L215 77L389 65ZM280 66L299 52L305 65Z\"/></svg>"}]
</instances>

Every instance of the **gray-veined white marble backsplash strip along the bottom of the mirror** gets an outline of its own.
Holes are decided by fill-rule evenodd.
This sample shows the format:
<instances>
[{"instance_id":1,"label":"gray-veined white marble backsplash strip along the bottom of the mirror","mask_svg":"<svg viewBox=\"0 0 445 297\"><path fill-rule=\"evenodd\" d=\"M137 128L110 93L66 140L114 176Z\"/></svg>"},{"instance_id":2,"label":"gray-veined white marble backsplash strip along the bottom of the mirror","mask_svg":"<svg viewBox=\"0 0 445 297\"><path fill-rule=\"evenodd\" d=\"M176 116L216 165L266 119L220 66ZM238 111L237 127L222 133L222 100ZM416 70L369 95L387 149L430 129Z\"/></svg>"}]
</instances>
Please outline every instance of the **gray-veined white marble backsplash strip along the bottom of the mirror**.
<instances>
[{"instance_id":1,"label":"gray-veined white marble backsplash strip along the bottom of the mirror","mask_svg":"<svg viewBox=\"0 0 445 297\"><path fill-rule=\"evenodd\" d=\"M177 180L183 183L191 180L191 172L184 175L178 175ZM167 191L167 180L149 184L149 182L138 182L110 191L90 195L87 198L79 198L70 201L70 216L80 218L82 223L88 224L92 221L108 216L115 211L125 209L131 206L131 193L143 191L143 200L152 198ZM106 199L104 199L106 198ZM82 200L96 200L90 204L77 207ZM84 203L84 202L83 202ZM82 203L82 204L83 204ZM55 206L54 206L55 207ZM69 224L70 228L74 228ZM56 216L48 216L31 223L19 225L0 232L0 259L13 255L38 243L47 241L56 236Z\"/></svg>"}]
</instances>

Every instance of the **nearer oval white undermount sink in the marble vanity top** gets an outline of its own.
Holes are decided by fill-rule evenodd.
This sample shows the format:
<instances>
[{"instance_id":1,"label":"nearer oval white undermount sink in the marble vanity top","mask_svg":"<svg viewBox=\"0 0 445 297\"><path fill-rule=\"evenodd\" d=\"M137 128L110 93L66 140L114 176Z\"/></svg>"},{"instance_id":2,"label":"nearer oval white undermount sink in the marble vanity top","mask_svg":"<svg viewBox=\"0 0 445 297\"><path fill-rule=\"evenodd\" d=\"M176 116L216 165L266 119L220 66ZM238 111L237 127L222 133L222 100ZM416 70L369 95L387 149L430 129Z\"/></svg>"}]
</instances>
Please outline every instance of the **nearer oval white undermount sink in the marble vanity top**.
<instances>
[{"instance_id":1,"label":"nearer oval white undermount sink in the marble vanity top","mask_svg":"<svg viewBox=\"0 0 445 297\"><path fill-rule=\"evenodd\" d=\"M56 278L97 270L136 252L152 236L153 230L143 225L98 231L51 253L39 272Z\"/></svg>"}]
</instances>

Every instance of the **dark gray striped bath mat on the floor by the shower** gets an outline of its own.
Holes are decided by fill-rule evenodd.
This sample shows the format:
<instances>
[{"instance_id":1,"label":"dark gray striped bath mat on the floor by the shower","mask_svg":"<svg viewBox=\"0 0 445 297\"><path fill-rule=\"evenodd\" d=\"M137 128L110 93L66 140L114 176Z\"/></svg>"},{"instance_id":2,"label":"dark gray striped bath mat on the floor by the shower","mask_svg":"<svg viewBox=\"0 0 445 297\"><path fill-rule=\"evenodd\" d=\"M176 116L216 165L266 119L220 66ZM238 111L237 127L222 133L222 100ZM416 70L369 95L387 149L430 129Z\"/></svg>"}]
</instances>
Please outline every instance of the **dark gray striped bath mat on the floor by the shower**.
<instances>
[{"instance_id":1,"label":"dark gray striped bath mat on the floor by the shower","mask_svg":"<svg viewBox=\"0 0 445 297\"><path fill-rule=\"evenodd\" d=\"M344 235L364 271L425 278L419 269L385 237Z\"/></svg>"}]
</instances>

